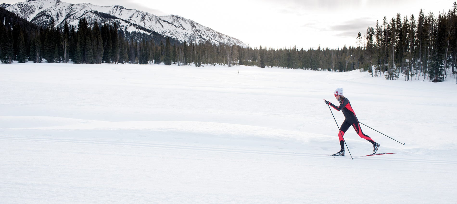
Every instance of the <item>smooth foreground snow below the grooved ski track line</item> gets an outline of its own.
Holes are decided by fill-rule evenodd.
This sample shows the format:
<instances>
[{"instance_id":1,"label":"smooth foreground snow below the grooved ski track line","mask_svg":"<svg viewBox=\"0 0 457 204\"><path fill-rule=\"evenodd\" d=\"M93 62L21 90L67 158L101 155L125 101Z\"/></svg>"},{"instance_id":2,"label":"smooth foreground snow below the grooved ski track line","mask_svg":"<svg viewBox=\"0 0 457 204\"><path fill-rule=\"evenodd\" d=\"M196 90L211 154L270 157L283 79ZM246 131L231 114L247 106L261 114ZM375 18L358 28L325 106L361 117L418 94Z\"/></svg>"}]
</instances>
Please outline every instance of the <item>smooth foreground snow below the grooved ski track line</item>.
<instances>
[{"instance_id":1,"label":"smooth foreground snow below the grooved ski track line","mask_svg":"<svg viewBox=\"0 0 457 204\"><path fill-rule=\"evenodd\" d=\"M0 141L5 203L29 195L37 203L255 203L258 197L271 204L365 203L373 196L380 203L433 203L449 197L456 185L456 161L414 155L351 160L147 142L5 136ZM328 190L334 184L342 185L338 192Z\"/></svg>"}]
</instances>

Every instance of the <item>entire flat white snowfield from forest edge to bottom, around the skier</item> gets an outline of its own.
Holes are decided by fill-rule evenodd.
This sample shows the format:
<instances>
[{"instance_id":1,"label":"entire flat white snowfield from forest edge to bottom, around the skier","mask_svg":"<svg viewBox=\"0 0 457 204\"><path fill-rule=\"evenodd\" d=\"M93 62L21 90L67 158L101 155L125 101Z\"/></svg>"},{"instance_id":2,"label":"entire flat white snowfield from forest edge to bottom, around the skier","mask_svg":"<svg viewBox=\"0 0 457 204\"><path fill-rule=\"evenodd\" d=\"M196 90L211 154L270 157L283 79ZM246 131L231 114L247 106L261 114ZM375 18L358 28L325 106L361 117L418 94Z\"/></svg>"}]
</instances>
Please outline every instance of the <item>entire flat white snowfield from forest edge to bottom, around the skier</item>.
<instances>
[{"instance_id":1,"label":"entire flat white snowfield from forest edge to bottom, around the skier","mask_svg":"<svg viewBox=\"0 0 457 204\"><path fill-rule=\"evenodd\" d=\"M342 87L373 157L327 156ZM0 203L455 204L457 85L368 73L0 65ZM338 125L344 120L333 110ZM350 128L352 157L371 143Z\"/></svg>"}]
</instances>

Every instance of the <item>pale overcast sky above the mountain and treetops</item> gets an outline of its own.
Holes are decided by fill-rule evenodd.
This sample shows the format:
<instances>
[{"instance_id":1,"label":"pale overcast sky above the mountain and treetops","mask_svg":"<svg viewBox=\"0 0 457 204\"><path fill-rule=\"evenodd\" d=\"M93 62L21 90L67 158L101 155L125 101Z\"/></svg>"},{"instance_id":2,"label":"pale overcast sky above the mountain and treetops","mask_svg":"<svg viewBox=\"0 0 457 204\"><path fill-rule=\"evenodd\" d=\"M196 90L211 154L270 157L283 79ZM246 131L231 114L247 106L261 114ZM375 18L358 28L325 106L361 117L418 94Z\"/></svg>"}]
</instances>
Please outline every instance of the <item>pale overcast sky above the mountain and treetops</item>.
<instances>
[{"instance_id":1,"label":"pale overcast sky above the mountain and treetops","mask_svg":"<svg viewBox=\"0 0 457 204\"><path fill-rule=\"evenodd\" d=\"M23 0L0 0L17 3ZM317 48L356 46L357 33L420 9L438 16L452 9L454 0L62 0L68 3L122 5L157 16L178 15L251 47Z\"/></svg>"}]
</instances>

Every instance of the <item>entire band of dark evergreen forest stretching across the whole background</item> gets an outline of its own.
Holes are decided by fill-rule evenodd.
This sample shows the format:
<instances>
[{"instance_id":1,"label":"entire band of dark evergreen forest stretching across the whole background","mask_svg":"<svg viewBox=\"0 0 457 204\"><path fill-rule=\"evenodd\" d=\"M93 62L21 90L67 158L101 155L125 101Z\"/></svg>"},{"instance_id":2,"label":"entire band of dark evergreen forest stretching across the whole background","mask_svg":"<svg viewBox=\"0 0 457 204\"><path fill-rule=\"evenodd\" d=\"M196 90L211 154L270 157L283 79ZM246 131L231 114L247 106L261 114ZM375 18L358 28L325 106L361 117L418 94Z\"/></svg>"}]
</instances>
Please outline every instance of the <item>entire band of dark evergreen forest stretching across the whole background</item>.
<instances>
[{"instance_id":1,"label":"entire band of dark evergreen forest stretching across the whole background","mask_svg":"<svg viewBox=\"0 0 457 204\"><path fill-rule=\"evenodd\" d=\"M400 14L368 27L356 37L355 47L298 49L297 47L240 47L223 43L179 42L154 33L153 37L128 33L116 23L77 26L31 25L0 8L0 61L25 63L165 63L180 66L221 64L261 68L281 67L345 72L365 70L372 76L433 82L456 76L457 5L448 12ZM25 21L25 22L24 22ZM92 26L89 26L92 25Z\"/></svg>"}]
</instances>

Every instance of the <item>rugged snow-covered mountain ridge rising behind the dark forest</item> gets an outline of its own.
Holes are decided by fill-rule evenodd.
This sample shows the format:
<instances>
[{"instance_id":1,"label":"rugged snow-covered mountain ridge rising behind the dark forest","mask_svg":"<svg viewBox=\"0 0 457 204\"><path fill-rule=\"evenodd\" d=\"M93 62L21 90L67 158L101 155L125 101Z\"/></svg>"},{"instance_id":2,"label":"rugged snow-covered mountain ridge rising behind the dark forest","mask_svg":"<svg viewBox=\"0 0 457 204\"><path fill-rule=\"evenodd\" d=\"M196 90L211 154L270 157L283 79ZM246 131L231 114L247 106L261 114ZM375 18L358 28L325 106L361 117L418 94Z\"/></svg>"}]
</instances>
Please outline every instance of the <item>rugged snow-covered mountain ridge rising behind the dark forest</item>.
<instances>
[{"instance_id":1,"label":"rugged snow-covered mountain ridge rising behind the dark forest","mask_svg":"<svg viewBox=\"0 0 457 204\"><path fill-rule=\"evenodd\" d=\"M81 18L85 17L92 24L116 22L119 28L128 32L142 32L175 38L181 42L236 44L246 46L236 38L229 37L218 31L202 26L195 21L181 16L156 16L148 12L126 9L120 5L99 6L90 3L70 4L60 0L27 0L13 5L2 4L6 10L37 25L47 26L53 19L57 26L63 26L65 21L69 25L77 26Z\"/></svg>"}]
</instances>

